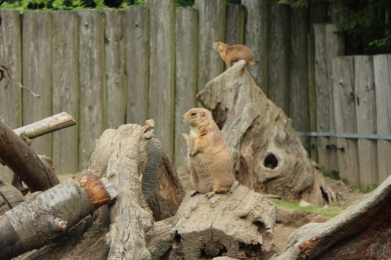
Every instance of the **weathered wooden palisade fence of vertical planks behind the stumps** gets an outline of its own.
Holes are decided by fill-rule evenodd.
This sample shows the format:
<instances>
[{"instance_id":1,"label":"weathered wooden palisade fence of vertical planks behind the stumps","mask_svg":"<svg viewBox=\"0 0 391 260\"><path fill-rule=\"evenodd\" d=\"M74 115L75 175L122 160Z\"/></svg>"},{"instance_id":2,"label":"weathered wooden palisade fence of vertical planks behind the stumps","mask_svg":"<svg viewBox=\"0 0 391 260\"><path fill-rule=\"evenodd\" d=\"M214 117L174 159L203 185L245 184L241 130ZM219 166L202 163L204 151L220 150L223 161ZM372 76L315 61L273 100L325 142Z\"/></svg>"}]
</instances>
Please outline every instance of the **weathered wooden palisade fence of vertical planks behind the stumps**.
<instances>
[{"instance_id":1,"label":"weathered wooden palisade fence of vertical planks behind the stumps","mask_svg":"<svg viewBox=\"0 0 391 260\"><path fill-rule=\"evenodd\" d=\"M370 140L370 145L366 144L368 140L362 143L335 135L308 134L376 133L376 129L353 127L356 124L368 126L368 121L352 121L352 125L346 123L346 118L338 118L356 120L355 115L366 110L360 106L363 110L356 111L357 105L351 104L352 101L349 104L353 108L349 109L354 110L354 116L341 113L345 108L338 107L348 105L344 101L337 103L344 92L336 92L340 89L335 87L335 75L342 73L337 63L341 59L346 62L345 58L332 58L344 54L343 37L334 33L334 25L314 26L327 21L328 2L311 1L309 8L298 9L264 0L244 0L242 4L196 0L195 8L183 8L174 7L173 0L147 0L145 7L127 7L123 11L25 11L19 14L0 9L3 17L0 62L13 61L9 67L14 77L41 96L38 99L22 92L14 82L4 89L3 80L0 82L0 117L11 128L18 128L62 111L74 116L77 126L32 142L36 153L54 159L57 173L84 169L93 141L105 129L124 123L143 125L146 119L153 118L156 136L178 167L183 164L181 133L188 132L182 115L199 106L195 94L224 70L224 62L213 50L212 43L240 43L249 46L254 60L258 61L257 66L248 68L256 83L289 115L314 160L326 171L340 171L341 177L355 185L383 180L380 172L378 179L368 177L375 175L374 169L369 173L361 171L360 166L358 170L359 148L366 145L375 151L373 145L379 142L382 145L377 144L377 148L386 149L384 146L389 145L389 141ZM375 61L377 58L369 64L375 66L378 63ZM385 71L384 75L375 75L375 81L389 77ZM362 74L370 77L367 73L357 75ZM381 98L384 96L381 94ZM376 101L380 102L377 97ZM387 105L387 100L383 104ZM371 108L370 113L375 118L387 116ZM343 126L338 124L341 120ZM389 121L388 118L385 123L388 128L382 126L382 129L389 131ZM389 134L387 130L382 133ZM378 134L379 131L380 126L377 126ZM344 147L352 142L357 150L337 150L341 142L346 142ZM380 162L380 151L376 152ZM352 159L354 154L356 164ZM350 166L353 164L357 169ZM391 169L380 163L376 167ZM0 169L0 176L10 178L4 167Z\"/></svg>"}]
</instances>

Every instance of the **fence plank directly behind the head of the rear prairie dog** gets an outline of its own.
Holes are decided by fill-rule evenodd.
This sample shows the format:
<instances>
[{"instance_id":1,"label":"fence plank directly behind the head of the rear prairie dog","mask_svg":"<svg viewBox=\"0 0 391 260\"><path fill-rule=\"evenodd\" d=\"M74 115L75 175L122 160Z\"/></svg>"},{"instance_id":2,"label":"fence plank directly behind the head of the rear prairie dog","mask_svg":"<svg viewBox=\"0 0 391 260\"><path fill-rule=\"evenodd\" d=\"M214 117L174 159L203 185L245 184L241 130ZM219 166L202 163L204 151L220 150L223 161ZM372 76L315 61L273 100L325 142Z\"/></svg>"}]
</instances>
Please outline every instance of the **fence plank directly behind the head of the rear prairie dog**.
<instances>
[{"instance_id":1,"label":"fence plank directly behind the head of the rear prairie dog","mask_svg":"<svg viewBox=\"0 0 391 260\"><path fill-rule=\"evenodd\" d=\"M226 0L195 0L198 9L198 92L223 71L224 61L213 49L216 41L225 41Z\"/></svg>"}]
</instances>

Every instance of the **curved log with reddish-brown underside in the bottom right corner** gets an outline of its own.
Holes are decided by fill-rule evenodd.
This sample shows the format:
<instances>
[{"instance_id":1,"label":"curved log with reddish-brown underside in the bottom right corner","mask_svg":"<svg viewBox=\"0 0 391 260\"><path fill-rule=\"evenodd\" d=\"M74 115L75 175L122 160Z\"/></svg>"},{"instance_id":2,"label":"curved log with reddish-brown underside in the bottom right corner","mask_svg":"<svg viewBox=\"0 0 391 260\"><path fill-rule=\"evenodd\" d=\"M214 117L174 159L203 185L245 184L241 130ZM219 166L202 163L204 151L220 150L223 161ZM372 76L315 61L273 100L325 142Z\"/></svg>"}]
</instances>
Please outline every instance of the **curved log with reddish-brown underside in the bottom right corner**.
<instances>
[{"instance_id":1,"label":"curved log with reddish-brown underside in the bottom right corner","mask_svg":"<svg viewBox=\"0 0 391 260\"><path fill-rule=\"evenodd\" d=\"M333 219L297 230L270 259L391 259L390 228L391 176Z\"/></svg>"}]
</instances>

